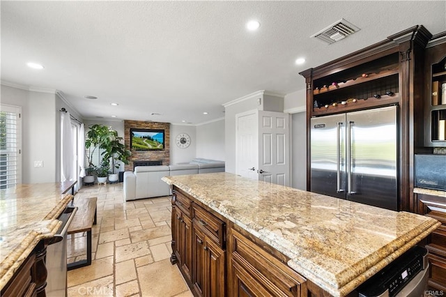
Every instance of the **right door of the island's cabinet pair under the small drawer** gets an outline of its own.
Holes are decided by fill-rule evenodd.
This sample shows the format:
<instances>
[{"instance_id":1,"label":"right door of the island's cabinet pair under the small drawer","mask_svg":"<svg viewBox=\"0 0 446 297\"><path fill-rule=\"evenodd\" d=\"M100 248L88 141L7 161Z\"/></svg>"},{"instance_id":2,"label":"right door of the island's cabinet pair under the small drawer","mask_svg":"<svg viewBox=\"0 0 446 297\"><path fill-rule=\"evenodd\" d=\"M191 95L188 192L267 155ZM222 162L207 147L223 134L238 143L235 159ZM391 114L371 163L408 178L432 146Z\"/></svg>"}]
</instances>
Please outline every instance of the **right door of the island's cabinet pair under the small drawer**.
<instances>
[{"instance_id":1,"label":"right door of the island's cabinet pair under the small drawer","mask_svg":"<svg viewBox=\"0 0 446 297\"><path fill-rule=\"evenodd\" d=\"M203 250L205 251L205 287L206 292L204 296L208 297L224 297L224 278L225 269L224 263L226 261L226 252L220 248L219 245L214 243L210 238L204 238L205 245Z\"/></svg>"}]
</instances>

